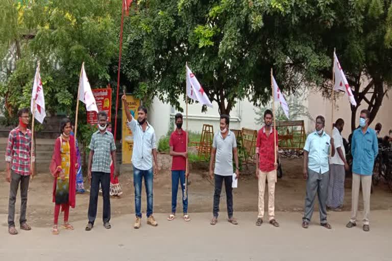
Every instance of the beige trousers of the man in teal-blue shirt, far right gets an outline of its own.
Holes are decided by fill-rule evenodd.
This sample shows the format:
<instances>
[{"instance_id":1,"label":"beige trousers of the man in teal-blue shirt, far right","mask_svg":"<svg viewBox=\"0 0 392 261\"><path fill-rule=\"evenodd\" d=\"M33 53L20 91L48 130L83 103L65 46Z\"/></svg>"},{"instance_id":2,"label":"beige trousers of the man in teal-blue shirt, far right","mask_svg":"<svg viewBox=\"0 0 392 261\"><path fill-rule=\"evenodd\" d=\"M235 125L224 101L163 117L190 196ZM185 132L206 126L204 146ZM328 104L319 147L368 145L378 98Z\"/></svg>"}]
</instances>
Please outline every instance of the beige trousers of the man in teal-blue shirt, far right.
<instances>
[{"instance_id":1,"label":"beige trousers of the man in teal-blue shirt, far right","mask_svg":"<svg viewBox=\"0 0 392 261\"><path fill-rule=\"evenodd\" d=\"M363 224L369 225L370 191L372 188L372 175L358 175L353 173L352 199L351 199L351 222L357 221L359 187L362 183L363 196Z\"/></svg>"}]
</instances>

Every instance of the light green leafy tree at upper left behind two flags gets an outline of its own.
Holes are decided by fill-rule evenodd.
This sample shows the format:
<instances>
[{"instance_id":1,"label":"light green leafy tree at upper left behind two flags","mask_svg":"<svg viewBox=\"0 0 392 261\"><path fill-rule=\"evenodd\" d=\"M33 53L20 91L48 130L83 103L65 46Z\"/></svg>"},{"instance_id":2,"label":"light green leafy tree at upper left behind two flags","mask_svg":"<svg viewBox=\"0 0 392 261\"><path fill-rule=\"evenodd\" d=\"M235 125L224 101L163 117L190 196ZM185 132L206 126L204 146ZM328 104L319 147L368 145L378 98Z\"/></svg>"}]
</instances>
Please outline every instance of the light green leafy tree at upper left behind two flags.
<instances>
[{"instance_id":1,"label":"light green leafy tree at upper left behind two flags","mask_svg":"<svg viewBox=\"0 0 392 261\"><path fill-rule=\"evenodd\" d=\"M82 62L92 87L106 86L111 80L111 65L118 58L121 0L28 3L1 2L0 54L15 62L14 69L3 71L0 85L6 111L12 116L18 108L30 106L39 60L46 110L74 116Z\"/></svg>"}]
</instances>

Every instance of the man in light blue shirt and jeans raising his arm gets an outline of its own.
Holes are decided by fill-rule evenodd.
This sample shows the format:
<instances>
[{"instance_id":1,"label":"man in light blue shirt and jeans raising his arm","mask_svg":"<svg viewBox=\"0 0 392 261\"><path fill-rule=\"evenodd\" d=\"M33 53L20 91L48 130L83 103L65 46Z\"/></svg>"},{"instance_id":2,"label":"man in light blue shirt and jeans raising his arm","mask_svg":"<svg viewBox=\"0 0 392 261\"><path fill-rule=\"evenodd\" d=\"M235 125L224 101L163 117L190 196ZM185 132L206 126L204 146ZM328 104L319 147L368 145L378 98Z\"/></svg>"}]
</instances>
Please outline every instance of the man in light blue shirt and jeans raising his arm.
<instances>
[{"instance_id":1,"label":"man in light blue shirt and jeans raising his arm","mask_svg":"<svg viewBox=\"0 0 392 261\"><path fill-rule=\"evenodd\" d=\"M145 193L147 194L147 224L158 226L153 217L153 179L158 174L157 139L153 126L147 122L147 109L139 106L137 109L137 120L135 120L128 109L127 96L121 97L125 113L127 115L127 126L133 133L133 185L135 187L135 213L134 228L141 225L141 185L144 177ZM153 165L153 159L155 165Z\"/></svg>"}]
</instances>

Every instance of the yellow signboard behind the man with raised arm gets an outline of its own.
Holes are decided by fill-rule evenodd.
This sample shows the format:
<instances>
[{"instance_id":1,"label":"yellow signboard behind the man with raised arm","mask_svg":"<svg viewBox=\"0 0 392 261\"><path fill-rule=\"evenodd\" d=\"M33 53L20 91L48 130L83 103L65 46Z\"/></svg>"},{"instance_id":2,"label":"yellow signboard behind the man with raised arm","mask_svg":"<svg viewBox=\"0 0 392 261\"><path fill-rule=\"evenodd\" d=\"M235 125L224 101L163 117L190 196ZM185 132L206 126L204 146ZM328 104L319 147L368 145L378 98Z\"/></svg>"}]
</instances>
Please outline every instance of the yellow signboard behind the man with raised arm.
<instances>
[{"instance_id":1,"label":"yellow signboard behind the man with raised arm","mask_svg":"<svg viewBox=\"0 0 392 261\"><path fill-rule=\"evenodd\" d=\"M140 100L131 95L127 95L128 108L131 111L132 117L137 120L137 108L140 106ZM133 150L133 134L127 126L127 115L125 114L124 106L122 108L122 164L131 164L132 150Z\"/></svg>"}]
</instances>

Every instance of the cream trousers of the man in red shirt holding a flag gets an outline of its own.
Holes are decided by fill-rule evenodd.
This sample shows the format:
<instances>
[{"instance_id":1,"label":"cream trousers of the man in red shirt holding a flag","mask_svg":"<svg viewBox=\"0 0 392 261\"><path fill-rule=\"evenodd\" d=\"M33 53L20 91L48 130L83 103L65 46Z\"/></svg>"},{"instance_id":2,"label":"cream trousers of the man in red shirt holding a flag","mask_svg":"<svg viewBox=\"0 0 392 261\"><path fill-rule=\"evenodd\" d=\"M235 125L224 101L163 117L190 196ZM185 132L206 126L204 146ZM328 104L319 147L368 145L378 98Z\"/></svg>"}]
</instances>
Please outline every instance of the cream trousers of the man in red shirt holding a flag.
<instances>
[{"instance_id":1,"label":"cream trousers of the man in red shirt holding a flag","mask_svg":"<svg viewBox=\"0 0 392 261\"><path fill-rule=\"evenodd\" d=\"M268 180L268 217L269 220L275 219L275 179L276 170L263 172L259 171L259 215L258 218L264 217L264 190L265 178Z\"/></svg>"}]
</instances>

